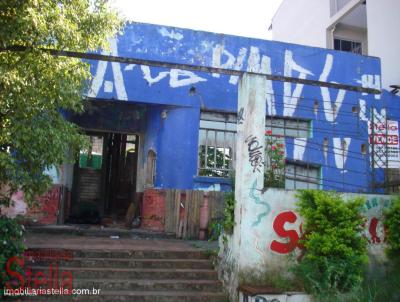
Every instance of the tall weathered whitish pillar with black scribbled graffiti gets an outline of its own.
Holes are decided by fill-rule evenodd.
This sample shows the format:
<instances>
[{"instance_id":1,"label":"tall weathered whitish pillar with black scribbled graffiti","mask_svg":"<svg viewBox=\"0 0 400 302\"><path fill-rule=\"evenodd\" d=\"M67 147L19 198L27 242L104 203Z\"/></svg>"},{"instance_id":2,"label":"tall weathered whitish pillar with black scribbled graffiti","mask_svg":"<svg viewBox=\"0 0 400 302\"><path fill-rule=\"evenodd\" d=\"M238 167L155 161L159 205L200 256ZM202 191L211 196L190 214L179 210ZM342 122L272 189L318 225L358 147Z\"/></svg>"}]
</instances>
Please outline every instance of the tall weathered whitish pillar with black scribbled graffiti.
<instances>
[{"instance_id":1,"label":"tall weathered whitish pillar with black scribbled graffiti","mask_svg":"<svg viewBox=\"0 0 400 302\"><path fill-rule=\"evenodd\" d=\"M238 271L259 265L254 257L254 238L249 231L259 223L262 213L250 204L262 203L265 162L265 115L267 79L244 74L239 83L238 131L236 142L235 229L233 254ZM258 263L258 264L257 264Z\"/></svg>"}]
</instances>

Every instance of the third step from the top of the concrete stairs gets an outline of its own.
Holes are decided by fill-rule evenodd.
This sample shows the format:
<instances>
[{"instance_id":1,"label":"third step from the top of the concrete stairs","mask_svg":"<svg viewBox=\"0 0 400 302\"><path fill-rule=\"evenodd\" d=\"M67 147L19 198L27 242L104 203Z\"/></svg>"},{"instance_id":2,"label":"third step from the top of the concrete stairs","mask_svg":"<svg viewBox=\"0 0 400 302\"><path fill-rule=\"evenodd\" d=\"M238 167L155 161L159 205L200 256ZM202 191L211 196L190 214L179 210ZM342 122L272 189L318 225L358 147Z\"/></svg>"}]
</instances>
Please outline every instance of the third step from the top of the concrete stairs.
<instances>
[{"instance_id":1,"label":"third step from the top of the concrete stairs","mask_svg":"<svg viewBox=\"0 0 400 302\"><path fill-rule=\"evenodd\" d=\"M42 272L50 275L48 266L32 267L32 274ZM73 279L190 279L217 280L213 269L151 269L151 268L97 268L97 267L58 267L59 276L71 272ZM54 274L54 271L53 273Z\"/></svg>"}]
</instances>

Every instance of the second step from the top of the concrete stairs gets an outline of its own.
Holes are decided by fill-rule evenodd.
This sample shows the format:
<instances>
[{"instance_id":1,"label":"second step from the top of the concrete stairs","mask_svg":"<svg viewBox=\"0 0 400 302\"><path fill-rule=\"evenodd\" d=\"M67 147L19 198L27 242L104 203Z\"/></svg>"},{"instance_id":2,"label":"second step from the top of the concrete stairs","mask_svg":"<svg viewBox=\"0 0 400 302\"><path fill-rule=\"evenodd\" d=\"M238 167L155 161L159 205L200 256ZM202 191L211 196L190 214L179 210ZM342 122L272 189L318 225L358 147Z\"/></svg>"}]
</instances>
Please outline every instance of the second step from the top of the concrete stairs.
<instances>
[{"instance_id":1,"label":"second step from the top of the concrete stairs","mask_svg":"<svg viewBox=\"0 0 400 302\"><path fill-rule=\"evenodd\" d=\"M208 259L129 259L129 258L81 258L71 260L34 260L26 258L26 265L49 266L57 263L62 267L97 267L97 268L171 268L171 269L212 269L213 265Z\"/></svg>"}]
</instances>

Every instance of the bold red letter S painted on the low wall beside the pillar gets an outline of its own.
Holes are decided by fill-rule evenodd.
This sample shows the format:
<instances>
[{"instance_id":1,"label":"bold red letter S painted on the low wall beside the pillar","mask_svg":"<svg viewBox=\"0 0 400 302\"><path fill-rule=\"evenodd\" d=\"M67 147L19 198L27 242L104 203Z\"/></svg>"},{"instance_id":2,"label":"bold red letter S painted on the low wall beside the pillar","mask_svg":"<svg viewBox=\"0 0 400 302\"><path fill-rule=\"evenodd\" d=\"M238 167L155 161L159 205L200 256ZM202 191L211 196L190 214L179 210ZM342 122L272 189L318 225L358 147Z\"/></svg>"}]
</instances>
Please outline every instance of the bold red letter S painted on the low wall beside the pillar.
<instances>
[{"instance_id":1,"label":"bold red letter S painted on the low wall beside the pillar","mask_svg":"<svg viewBox=\"0 0 400 302\"><path fill-rule=\"evenodd\" d=\"M289 242L279 242L273 240L271 242L271 250L279 254L288 254L293 251L299 241L299 234L295 230L285 230L285 223L294 223L297 220L297 216L292 211L282 212L276 216L273 227L275 233L283 238L289 238Z\"/></svg>"}]
</instances>

